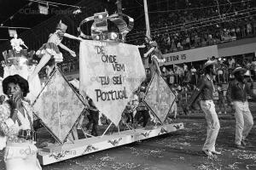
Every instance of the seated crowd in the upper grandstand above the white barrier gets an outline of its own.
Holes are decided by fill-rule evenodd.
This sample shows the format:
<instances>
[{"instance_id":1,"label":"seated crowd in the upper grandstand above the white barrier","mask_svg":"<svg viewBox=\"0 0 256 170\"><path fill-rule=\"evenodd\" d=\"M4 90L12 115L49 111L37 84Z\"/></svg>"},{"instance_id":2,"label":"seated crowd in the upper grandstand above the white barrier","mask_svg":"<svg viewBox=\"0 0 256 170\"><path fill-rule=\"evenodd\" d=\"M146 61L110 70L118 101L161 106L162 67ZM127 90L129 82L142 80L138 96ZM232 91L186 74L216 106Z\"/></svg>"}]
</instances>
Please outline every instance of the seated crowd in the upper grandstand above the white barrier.
<instances>
[{"instance_id":1,"label":"seated crowd in the upper grandstand above the white barrier","mask_svg":"<svg viewBox=\"0 0 256 170\"><path fill-rule=\"evenodd\" d=\"M189 48L199 48L221 42L235 41L256 34L256 11L254 1L186 1L181 10L157 14L149 13L151 36L160 45L163 54ZM127 41L143 43L143 22L137 22Z\"/></svg>"}]
</instances>

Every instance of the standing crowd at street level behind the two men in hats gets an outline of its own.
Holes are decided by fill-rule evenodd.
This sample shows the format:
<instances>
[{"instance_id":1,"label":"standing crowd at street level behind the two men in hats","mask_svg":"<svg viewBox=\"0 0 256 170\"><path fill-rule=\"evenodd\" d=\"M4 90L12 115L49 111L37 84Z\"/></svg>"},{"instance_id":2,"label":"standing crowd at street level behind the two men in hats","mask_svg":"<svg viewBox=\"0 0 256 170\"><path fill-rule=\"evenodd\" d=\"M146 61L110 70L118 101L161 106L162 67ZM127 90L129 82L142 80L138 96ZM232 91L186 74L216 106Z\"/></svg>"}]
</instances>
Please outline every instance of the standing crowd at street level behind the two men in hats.
<instances>
[{"instance_id":1,"label":"standing crowd at street level behind the two men in hats","mask_svg":"<svg viewBox=\"0 0 256 170\"><path fill-rule=\"evenodd\" d=\"M254 55L254 54L253 54ZM215 57L212 57L215 59ZM202 65L206 61L201 61L195 63L184 63L182 65L173 66L162 66L162 76L166 80L167 84L172 88L172 90L177 94L177 105L179 108L186 103L196 88L197 83L203 76ZM197 65L197 66L195 66ZM218 65L216 65L216 75L213 76L213 84L216 89L215 100L218 105L218 113L220 114L222 110L226 113L226 102L224 91L227 88L228 83L234 79L232 71L237 65L241 65L243 68L247 69L245 76L247 77L247 82L251 83L251 88L253 88L253 81L256 80L256 57L253 56L252 59L245 59L245 57L240 58L218 58ZM200 110L200 99L197 99L195 104L192 105L192 110Z\"/></svg>"}]
</instances>

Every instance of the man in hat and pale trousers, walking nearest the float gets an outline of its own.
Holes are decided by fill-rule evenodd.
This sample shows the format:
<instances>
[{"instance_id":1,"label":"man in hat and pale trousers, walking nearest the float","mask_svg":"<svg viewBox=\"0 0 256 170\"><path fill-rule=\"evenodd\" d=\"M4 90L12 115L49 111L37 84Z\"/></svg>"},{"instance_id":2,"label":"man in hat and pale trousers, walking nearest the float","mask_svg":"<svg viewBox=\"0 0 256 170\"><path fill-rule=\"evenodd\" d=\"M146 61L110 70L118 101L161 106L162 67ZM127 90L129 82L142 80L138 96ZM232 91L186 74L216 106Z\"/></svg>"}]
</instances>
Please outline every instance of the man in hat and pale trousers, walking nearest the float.
<instances>
[{"instance_id":1,"label":"man in hat and pale trousers, walking nearest the float","mask_svg":"<svg viewBox=\"0 0 256 170\"><path fill-rule=\"evenodd\" d=\"M215 150L215 143L218 137L219 122L218 115L215 111L215 105L213 103L213 92L215 91L212 77L216 74L214 65L217 64L217 60L208 60L203 66L205 71L204 77L201 78L197 84L194 94L191 95L191 99L196 99L201 94L201 109L206 114L207 119L207 139L202 148L203 152L207 156L212 154L221 154ZM197 96L195 98L195 96ZM190 100L190 99L189 99Z\"/></svg>"}]
</instances>

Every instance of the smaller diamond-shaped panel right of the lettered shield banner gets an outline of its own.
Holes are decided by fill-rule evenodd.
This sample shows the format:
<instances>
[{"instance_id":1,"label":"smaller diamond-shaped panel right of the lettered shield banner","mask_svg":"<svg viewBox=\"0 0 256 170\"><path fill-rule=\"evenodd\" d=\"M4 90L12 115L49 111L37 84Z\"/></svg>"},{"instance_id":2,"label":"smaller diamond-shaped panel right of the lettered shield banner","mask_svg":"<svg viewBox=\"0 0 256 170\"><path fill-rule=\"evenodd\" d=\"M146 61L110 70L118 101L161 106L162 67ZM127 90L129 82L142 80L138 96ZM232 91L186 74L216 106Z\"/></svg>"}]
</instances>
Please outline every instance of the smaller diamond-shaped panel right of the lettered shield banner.
<instances>
[{"instance_id":1,"label":"smaller diamond-shaped panel right of the lettered shield banner","mask_svg":"<svg viewBox=\"0 0 256 170\"><path fill-rule=\"evenodd\" d=\"M168 87L163 77L154 74L153 79L148 85L148 91L144 102L160 122L164 122L176 96L171 88Z\"/></svg>"}]
</instances>

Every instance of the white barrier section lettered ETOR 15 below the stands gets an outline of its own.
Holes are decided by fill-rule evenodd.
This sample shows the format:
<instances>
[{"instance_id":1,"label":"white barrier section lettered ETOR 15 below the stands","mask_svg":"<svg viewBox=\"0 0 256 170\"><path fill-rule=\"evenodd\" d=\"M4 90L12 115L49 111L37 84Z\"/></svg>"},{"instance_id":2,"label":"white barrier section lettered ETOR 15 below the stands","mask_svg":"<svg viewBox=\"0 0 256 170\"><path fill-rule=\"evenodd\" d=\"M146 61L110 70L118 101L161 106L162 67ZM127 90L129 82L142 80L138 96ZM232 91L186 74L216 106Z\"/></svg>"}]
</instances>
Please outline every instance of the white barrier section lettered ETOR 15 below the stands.
<instances>
[{"instance_id":1,"label":"white barrier section lettered ETOR 15 below the stands","mask_svg":"<svg viewBox=\"0 0 256 170\"><path fill-rule=\"evenodd\" d=\"M193 61L199 61L211 58L215 56L218 58L218 48L217 45L208 46L204 48L194 48L184 51L179 51L171 54L164 54L166 59L165 63L160 63L160 65L174 65L180 63L188 63Z\"/></svg>"}]
</instances>

